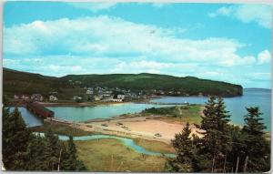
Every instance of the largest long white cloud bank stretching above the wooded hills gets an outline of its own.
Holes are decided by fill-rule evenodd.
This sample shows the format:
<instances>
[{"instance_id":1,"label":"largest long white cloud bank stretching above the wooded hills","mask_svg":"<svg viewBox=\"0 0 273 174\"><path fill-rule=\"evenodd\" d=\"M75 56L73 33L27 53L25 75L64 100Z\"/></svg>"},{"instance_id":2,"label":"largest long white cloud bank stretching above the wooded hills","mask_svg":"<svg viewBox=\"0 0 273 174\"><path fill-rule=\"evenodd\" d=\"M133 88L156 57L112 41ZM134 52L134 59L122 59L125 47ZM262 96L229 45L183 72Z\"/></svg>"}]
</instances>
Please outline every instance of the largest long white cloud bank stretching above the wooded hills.
<instances>
[{"instance_id":1,"label":"largest long white cloud bank stretching above the wooded hills","mask_svg":"<svg viewBox=\"0 0 273 174\"><path fill-rule=\"evenodd\" d=\"M152 61L207 63L222 67L250 65L253 56L239 56L245 46L228 38L177 38L183 28L135 24L100 15L78 19L35 21L4 28L5 55L73 55L140 57ZM16 43L16 44L15 44Z\"/></svg>"}]
</instances>

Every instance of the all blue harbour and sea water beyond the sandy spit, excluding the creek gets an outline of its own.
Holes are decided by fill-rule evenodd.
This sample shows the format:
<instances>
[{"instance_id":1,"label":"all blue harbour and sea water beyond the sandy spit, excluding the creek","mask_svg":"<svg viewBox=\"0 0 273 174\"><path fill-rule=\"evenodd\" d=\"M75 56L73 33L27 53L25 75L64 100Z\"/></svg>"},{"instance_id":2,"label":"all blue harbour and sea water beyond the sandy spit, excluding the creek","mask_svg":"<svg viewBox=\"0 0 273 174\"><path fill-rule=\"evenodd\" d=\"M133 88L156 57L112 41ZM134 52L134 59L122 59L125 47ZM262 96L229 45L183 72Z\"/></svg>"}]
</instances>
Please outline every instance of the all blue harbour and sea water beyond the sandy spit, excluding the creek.
<instances>
[{"instance_id":1,"label":"all blue harbour and sea water beyond the sandy spit, excluding the creek","mask_svg":"<svg viewBox=\"0 0 273 174\"><path fill-rule=\"evenodd\" d=\"M271 130L271 91L265 89L244 89L242 97L224 98L227 110L230 112L231 121L238 125L244 124L247 114L245 107L259 107L263 113L264 123L267 130ZM153 99L154 102L205 104L207 97L161 97ZM121 114L136 113L149 107L170 107L171 105L150 105L150 104L116 104L97 107L48 107L55 112L56 118L63 118L71 121L86 121L95 118L113 118ZM29 127L38 126L42 121L35 118L25 108L20 107L22 116Z\"/></svg>"}]
</instances>

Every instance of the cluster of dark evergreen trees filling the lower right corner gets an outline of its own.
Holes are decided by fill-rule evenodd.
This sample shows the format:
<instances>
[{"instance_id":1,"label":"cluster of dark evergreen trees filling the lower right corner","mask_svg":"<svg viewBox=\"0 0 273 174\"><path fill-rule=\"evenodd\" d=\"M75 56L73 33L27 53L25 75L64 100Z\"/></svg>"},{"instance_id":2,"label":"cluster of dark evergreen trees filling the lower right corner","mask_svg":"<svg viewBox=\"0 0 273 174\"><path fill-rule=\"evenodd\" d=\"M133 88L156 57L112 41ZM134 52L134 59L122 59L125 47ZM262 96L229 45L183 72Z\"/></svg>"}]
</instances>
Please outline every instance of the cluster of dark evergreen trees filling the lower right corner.
<instances>
[{"instance_id":1,"label":"cluster of dark evergreen trees filling the lower right corner","mask_svg":"<svg viewBox=\"0 0 273 174\"><path fill-rule=\"evenodd\" d=\"M210 97L200 125L200 138L190 137L187 124L172 141L176 159L167 171L179 172L265 172L270 169L270 144L258 107L248 107L245 126L229 124L222 98Z\"/></svg>"}]
</instances>

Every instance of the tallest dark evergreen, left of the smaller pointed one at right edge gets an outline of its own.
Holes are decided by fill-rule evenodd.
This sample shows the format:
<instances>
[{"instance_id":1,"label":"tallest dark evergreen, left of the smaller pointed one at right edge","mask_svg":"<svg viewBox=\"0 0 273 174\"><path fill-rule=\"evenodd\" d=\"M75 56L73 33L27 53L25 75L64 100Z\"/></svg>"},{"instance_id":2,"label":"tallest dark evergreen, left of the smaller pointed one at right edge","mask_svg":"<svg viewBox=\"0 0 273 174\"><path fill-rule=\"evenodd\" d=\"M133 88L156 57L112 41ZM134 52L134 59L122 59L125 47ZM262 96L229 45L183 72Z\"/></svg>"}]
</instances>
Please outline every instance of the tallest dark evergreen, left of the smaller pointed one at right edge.
<instances>
[{"instance_id":1,"label":"tallest dark evergreen, left of the smaller pointed one at right edge","mask_svg":"<svg viewBox=\"0 0 273 174\"><path fill-rule=\"evenodd\" d=\"M229 115L221 97L209 97L203 111L204 117L199 133L197 160L198 169L203 171L219 171L226 166L227 152L230 150L230 137L228 134Z\"/></svg>"}]
</instances>

